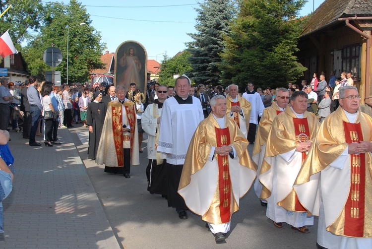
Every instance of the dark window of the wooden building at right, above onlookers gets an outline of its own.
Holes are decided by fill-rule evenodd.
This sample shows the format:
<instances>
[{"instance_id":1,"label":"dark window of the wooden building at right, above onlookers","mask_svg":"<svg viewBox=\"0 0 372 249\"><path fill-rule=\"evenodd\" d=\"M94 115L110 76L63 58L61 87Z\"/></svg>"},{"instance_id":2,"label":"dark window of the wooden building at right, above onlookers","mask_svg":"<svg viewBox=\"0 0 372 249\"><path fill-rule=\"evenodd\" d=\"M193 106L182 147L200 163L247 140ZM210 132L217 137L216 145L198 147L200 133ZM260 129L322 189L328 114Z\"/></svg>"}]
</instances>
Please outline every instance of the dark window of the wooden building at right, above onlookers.
<instances>
[{"instance_id":1,"label":"dark window of the wooden building at right, above onlookers","mask_svg":"<svg viewBox=\"0 0 372 249\"><path fill-rule=\"evenodd\" d=\"M342 50L342 71L352 72L355 79L359 80L361 67L360 67L360 44L353 44L344 47Z\"/></svg>"}]
</instances>

